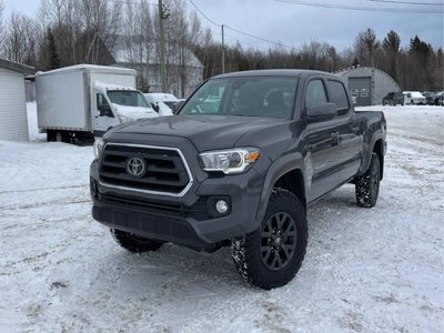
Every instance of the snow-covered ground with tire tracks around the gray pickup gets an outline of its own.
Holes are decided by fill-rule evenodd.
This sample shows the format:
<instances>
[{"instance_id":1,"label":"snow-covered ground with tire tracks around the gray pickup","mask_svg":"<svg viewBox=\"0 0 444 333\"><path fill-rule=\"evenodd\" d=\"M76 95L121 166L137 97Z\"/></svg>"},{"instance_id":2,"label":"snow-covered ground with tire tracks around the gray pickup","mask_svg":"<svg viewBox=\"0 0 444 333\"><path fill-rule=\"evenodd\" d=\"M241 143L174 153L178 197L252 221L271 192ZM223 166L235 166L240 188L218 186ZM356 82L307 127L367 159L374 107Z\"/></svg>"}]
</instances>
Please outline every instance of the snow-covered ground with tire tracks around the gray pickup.
<instances>
[{"instance_id":1,"label":"snow-covered ground with tire tracks around the gray pickup","mask_svg":"<svg viewBox=\"0 0 444 333\"><path fill-rule=\"evenodd\" d=\"M302 269L269 292L229 249L120 249L90 214L90 147L0 142L0 332L444 332L444 108L369 109L389 123L376 208L352 185L312 205Z\"/></svg>"}]
</instances>

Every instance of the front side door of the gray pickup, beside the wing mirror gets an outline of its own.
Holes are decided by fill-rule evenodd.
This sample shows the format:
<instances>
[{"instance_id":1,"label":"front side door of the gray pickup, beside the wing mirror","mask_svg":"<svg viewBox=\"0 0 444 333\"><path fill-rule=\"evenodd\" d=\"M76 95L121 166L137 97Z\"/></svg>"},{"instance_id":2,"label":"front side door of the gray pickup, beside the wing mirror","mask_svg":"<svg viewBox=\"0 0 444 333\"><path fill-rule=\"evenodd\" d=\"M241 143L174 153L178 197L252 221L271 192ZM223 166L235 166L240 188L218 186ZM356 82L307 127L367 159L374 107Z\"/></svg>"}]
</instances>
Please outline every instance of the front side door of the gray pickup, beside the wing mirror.
<instances>
[{"instance_id":1,"label":"front side door of the gray pickup, beside the wing mirror","mask_svg":"<svg viewBox=\"0 0 444 333\"><path fill-rule=\"evenodd\" d=\"M305 88L305 117L310 117L310 111L313 108L325 102L327 102L325 81L322 78L311 79ZM311 181L309 202L330 192L337 185L339 133L335 128L335 119L310 122L306 125L306 174Z\"/></svg>"}]
</instances>

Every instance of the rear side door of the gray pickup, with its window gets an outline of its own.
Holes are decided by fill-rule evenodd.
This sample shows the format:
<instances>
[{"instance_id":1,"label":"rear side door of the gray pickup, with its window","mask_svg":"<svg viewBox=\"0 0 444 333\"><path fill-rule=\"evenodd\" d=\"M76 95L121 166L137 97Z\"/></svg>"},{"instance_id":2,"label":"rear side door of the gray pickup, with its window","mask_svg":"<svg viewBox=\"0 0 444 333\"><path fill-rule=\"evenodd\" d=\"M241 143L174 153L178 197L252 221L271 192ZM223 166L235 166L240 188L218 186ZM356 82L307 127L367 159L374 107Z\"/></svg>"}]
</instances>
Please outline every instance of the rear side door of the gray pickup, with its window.
<instances>
[{"instance_id":1,"label":"rear side door of the gray pickup, with its window","mask_svg":"<svg viewBox=\"0 0 444 333\"><path fill-rule=\"evenodd\" d=\"M346 89L341 80L327 79L329 101L336 104L339 133L337 149L337 184L353 178L361 165L360 140L362 125L356 120Z\"/></svg>"}]
</instances>

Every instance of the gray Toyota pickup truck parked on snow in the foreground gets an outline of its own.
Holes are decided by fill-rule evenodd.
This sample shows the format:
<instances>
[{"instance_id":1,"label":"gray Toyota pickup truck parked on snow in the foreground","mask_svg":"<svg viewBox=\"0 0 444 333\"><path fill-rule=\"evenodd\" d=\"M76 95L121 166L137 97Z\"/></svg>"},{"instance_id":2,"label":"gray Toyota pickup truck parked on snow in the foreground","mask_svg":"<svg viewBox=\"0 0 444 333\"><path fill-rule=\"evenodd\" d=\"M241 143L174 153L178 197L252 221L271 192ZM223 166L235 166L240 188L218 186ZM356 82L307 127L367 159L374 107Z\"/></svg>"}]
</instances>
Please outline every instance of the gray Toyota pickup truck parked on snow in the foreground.
<instances>
[{"instance_id":1,"label":"gray Toyota pickup truck parked on snow in the foreground","mask_svg":"<svg viewBox=\"0 0 444 333\"><path fill-rule=\"evenodd\" d=\"M93 218L132 252L172 242L231 246L261 289L301 268L306 206L345 183L375 205L383 178L382 112L355 112L343 82L306 70L214 77L179 114L109 130L90 168Z\"/></svg>"}]
</instances>

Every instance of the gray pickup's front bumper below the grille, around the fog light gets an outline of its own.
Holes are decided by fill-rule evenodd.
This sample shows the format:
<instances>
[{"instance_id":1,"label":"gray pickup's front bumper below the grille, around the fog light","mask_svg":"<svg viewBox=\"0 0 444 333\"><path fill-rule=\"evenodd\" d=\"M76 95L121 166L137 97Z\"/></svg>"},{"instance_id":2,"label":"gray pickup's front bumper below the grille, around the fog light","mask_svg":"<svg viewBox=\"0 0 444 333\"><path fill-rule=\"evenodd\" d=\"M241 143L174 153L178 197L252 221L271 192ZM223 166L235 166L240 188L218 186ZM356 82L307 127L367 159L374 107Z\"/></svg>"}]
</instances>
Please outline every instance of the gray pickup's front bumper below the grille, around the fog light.
<instances>
[{"instance_id":1,"label":"gray pickup's front bumper below the grille, around the fog light","mask_svg":"<svg viewBox=\"0 0 444 333\"><path fill-rule=\"evenodd\" d=\"M99 183L98 163L93 162L92 215L109 228L202 250L212 250L224 240L255 230L263 176L251 169L242 174L209 178L195 167L191 165L198 173L193 186L183 196L173 198L103 186ZM226 215L211 213L209 205L214 198L229 200Z\"/></svg>"}]
</instances>

